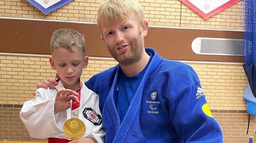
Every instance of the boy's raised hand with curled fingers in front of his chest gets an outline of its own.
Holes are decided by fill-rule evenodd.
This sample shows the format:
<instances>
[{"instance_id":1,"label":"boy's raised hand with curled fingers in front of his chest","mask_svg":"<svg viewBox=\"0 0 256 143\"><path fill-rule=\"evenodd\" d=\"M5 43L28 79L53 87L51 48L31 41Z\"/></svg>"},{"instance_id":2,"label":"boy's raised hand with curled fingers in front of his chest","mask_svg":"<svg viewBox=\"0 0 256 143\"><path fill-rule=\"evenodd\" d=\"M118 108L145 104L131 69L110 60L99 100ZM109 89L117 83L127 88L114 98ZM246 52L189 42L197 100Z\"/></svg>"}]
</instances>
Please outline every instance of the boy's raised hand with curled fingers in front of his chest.
<instances>
[{"instance_id":1,"label":"boy's raised hand with curled fingers in front of his chest","mask_svg":"<svg viewBox=\"0 0 256 143\"><path fill-rule=\"evenodd\" d=\"M70 89L62 89L57 92L54 103L54 115L66 111L71 107L71 103L69 101L72 99L75 102L79 103L78 97L79 94Z\"/></svg>"}]
</instances>

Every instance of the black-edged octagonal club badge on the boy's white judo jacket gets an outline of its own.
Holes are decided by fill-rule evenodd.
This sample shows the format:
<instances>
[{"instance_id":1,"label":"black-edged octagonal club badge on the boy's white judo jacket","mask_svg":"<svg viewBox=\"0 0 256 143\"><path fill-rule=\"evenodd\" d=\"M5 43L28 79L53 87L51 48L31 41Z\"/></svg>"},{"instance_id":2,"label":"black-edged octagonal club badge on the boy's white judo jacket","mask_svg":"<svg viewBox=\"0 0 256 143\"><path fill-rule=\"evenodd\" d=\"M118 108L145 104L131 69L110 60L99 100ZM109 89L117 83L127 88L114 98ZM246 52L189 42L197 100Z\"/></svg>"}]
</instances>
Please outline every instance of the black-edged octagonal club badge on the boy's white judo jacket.
<instances>
[{"instance_id":1,"label":"black-edged octagonal club badge on the boy's white judo jacket","mask_svg":"<svg viewBox=\"0 0 256 143\"><path fill-rule=\"evenodd\" d=\"M101 116L97 114L92 108L84 108L83 116L95 126L101 125Z\"/></svg>"}]
</instances>

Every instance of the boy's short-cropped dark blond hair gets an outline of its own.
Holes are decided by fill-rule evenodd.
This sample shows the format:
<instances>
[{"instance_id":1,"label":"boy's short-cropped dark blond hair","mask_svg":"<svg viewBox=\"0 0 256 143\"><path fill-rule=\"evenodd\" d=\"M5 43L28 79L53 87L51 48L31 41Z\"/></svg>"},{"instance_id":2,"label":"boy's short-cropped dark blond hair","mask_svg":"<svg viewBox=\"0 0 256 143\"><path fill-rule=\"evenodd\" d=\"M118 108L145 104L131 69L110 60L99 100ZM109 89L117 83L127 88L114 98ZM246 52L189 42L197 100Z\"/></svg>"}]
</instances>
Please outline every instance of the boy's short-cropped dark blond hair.
<instances>
[{"instance_id":1,"label":"boy's short-cropped dark blond hair","mask_svg":"<svg viewBox=\"0 0 256 143\"><path fill-rule=\"evenodd\" d=\"M50 42L51 53L60 47L72 50L73 46L76 46L85 54L85 40L82 34L70 28L54 31Z\"/></svg>"}]
</instances>

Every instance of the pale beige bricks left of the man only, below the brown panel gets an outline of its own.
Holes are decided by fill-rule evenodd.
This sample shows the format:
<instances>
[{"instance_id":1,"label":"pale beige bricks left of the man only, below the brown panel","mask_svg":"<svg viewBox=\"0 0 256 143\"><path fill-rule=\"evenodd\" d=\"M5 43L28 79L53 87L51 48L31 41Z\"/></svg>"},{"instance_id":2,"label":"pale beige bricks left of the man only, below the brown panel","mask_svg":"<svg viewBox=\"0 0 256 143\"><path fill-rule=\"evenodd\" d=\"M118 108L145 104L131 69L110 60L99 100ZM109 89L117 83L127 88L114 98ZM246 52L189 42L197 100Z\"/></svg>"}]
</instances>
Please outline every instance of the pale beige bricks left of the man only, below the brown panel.
<instances>
[{"instance_id":1,"label":"pale beige bricks left of the man only, below the brown panel","mask_svg":"<svg viewBox=\"0 0 256 143\"><path fill-rule=\"evenodd\" d=\"M87 81L116 64L115 60L90 59L81 79ZM33 98L38 82L54 79L55 74L47 57L0 55L0 104L23 104Z\"/></svg>"}]
</instances>

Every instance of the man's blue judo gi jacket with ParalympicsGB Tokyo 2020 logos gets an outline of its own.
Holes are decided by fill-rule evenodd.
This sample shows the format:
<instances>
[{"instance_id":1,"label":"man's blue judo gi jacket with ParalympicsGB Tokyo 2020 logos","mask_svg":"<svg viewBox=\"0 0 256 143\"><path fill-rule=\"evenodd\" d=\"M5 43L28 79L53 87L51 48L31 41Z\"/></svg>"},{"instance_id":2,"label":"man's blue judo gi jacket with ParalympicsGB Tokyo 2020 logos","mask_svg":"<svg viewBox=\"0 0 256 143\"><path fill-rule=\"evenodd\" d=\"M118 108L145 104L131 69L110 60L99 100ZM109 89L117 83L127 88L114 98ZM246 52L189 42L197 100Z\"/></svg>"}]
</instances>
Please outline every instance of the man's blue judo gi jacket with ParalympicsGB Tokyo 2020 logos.
<instances>
[{"instance_id":1,"label":"man's blue judo gi jacket with ParalympicsGB Tokyo 2020 logos","mask_svg":"<svg viewBox=\"0 0 256 143\"><path fill-rule=\"evenodd\" d=\"M153 55L129 109L120 123L115 106L120 65L86 82L99 94L105 142L221 143L220 126L212 117L200 81L189 65Z\"/></svg>"}]
</instances>

